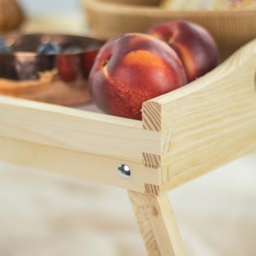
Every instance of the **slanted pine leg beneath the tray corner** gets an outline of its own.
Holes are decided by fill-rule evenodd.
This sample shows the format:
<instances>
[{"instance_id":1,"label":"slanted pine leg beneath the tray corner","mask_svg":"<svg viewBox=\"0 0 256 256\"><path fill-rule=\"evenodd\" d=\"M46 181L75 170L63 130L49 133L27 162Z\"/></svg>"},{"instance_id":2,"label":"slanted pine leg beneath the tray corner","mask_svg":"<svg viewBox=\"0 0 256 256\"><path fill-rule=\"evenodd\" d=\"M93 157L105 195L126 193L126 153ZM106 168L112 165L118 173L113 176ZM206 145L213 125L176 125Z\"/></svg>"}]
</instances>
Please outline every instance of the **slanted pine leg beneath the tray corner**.
<instances>
[{"instance_id":1,"label":"slanted pine leg beneath the tray corner","mask_svg":"<svg viewBox=\"0 0 256 256\"><path fill-rule=\"evenodd\" d=\"M184 256L167 194L145 195L128 191L149 256Z\"/></svg>"}]
</instances>

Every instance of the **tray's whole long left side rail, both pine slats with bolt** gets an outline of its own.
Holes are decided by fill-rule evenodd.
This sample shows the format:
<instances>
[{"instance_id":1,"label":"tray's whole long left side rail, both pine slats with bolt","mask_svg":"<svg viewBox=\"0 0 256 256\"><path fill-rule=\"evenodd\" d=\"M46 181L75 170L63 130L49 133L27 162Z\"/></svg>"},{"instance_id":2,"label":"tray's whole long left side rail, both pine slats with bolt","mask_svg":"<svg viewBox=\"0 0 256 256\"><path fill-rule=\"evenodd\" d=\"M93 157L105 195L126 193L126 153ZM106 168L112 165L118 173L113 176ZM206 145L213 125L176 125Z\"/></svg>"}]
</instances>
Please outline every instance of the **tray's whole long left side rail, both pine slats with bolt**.
<instances>
[{"instance_id":1,"label":"tray's whole long left side rail, both pine slats with bolt","mask_svg":"<svg viewBox=\"0 0 256 256\"><path fill-rule=\"evenodd\" d=\"M143 153L159 154L160 137L141 121L0 96L0 160L15 165L151 194L160 170Z\"/></svg>"}]
</instances>

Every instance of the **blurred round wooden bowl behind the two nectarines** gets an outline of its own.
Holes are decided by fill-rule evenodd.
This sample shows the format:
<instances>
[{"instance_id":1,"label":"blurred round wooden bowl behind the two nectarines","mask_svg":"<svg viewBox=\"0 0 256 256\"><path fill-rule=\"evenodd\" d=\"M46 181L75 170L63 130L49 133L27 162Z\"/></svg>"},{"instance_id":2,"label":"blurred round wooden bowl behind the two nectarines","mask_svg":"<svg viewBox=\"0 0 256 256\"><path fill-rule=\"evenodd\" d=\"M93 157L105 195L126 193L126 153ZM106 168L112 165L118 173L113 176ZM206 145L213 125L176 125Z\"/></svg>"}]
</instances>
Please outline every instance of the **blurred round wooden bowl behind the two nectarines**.
<instances>
[{"instance_id":1,"label":"blurred round wooden bowl behind the two nectarines","mask_svg":"<svg viewBox=\"0 0 256 256\"><path fill-rule=\"evenodd\" d=\"M147 32L166 20L192 20L207 27L225 58L256 38L256 9L172 11L160 0L82 0L93 36L111 38L124 32Z\"/></svg>"}]
</instances>

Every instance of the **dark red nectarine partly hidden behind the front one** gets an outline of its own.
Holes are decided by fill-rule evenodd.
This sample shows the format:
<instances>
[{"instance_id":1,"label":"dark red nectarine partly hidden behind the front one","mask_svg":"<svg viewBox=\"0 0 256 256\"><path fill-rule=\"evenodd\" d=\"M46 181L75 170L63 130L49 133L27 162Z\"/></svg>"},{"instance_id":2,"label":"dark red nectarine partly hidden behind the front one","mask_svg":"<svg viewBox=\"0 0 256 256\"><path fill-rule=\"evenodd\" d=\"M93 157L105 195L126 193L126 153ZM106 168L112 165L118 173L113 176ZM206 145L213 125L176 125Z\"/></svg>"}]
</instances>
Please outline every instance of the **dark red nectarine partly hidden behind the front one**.
<instances>
[{"instance_id":1,"label":"dark red nectarine partly hidden behind the front one","mask_svg":"<svg viewBox=\"0 0 256 256\"><path fill-rule=\"evenodd\" d=\"M165 41L179 55L189 82L216 67L219 62L218 46L206 28L186 20L160 23L148 34Z\"/></svg>"}]
</instances>

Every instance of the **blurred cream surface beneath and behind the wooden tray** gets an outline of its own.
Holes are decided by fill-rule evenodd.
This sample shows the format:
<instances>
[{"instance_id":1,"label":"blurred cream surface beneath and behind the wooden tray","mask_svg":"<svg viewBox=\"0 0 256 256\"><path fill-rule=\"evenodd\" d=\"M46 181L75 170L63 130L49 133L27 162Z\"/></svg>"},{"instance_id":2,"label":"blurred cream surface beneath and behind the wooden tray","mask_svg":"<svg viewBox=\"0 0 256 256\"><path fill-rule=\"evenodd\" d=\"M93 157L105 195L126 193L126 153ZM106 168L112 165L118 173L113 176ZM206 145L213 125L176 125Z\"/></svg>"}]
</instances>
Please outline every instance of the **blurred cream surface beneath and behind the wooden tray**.
<instances>
[{"instance_id":1,"label":"blurred cream surface beneath and behind the wooden tray","mask_svg":"<svg viewBox=\"0 0 256 256\"><path fill-rule=\"evenodd\" d=\"M30 17L24 32L88 34L84 18ZM188 256L253 256L256 153L169 193ZM0 255L146 255L123 189L0 162Z\"/></svg>"}]
</instances>

